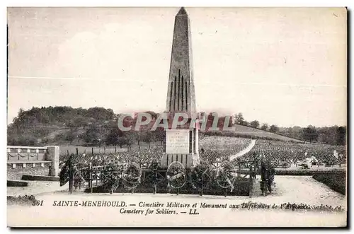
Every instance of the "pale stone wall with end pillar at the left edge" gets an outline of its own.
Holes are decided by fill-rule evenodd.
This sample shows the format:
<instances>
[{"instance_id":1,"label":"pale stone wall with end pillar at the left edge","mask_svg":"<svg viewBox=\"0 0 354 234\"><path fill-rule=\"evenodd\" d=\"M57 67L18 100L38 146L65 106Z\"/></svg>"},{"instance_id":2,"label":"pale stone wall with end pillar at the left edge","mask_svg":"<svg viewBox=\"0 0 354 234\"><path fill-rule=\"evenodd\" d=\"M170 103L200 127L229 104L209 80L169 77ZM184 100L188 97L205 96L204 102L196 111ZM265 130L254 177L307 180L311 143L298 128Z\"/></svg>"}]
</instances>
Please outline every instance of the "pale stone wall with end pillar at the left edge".
<instances>
[{"instance_id":1,"label":"pale stone wall with end pillar at the left edge","mask_svg":"<svg viewBox=\"0 0 354 234\"><path fill-rule=\"evenodd\" d=\"M59 146L7 146L7 179L59 175Z\"/></svg>"}]
</instances>

